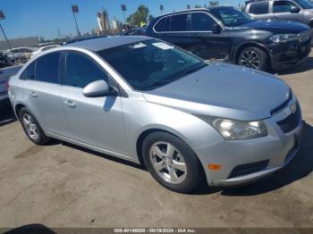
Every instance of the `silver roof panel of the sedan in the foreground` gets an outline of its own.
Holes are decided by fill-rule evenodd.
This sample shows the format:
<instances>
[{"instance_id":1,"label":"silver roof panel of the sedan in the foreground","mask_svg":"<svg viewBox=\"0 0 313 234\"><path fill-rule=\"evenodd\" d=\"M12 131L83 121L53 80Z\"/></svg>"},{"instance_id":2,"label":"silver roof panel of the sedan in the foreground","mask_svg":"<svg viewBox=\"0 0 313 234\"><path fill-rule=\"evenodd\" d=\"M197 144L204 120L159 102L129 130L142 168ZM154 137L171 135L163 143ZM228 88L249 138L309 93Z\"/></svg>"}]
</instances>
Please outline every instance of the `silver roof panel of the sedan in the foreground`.
<instances>
[{"instance_id":1,"label":"silver roof panel of the sedan in the foreground","mask_svg":"<svg viewBox=\"0 0 313 234\"><path fill-rule=\"evenodd\" d=\"M148 37L142 36L113 36L107 38L96 38L96 39L89 39L84 41L75 42L66 46L73 46L73 47L80 47L85 48L91 51L100 51L108 48L112 48L115 46L123 46L126 44L131 44L143 40L148 40Z\"/></svg>"}]
</instances>

